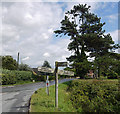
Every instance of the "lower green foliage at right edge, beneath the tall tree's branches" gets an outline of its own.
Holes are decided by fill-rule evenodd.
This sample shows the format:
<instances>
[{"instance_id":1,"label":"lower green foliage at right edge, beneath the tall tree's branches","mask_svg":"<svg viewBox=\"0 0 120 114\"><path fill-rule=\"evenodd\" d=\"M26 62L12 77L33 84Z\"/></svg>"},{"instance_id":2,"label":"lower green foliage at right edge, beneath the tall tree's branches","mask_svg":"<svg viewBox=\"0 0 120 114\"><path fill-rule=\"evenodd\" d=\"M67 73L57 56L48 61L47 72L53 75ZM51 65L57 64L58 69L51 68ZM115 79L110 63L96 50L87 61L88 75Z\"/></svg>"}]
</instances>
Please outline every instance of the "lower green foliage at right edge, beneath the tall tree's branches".
<instances>
[{"instance_id":1,"label":"lower green foliage at right edge, beneath the tall tree's branches","mask_svg":"<svg viewBox=\"0 0 120 114\"><path fill-rule=\"evenodd\" d=\"M107 76L107 74L111 71L114 71L120 75L119 65L120 65L120 54L117 53L109 52L108 54L96 58L94 60L94 69L98 70L99 76L101 74Z\"/></svg>"}]
</instances>

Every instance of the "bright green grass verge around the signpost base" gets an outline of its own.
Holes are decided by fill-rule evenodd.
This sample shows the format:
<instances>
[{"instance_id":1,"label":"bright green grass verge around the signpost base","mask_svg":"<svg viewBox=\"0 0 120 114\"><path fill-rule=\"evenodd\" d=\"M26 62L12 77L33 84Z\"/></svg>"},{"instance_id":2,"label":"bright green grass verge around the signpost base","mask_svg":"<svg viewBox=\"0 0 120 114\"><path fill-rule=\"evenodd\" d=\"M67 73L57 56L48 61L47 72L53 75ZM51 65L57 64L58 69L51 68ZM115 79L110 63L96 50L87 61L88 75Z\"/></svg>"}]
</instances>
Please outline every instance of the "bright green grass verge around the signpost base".
<instances>
[{"instance_id":1,"label":"bright green grass verge around the signpost base","mask_svg":"<svg viewBox=\"0 0 120 114\"><path fill-rule=\"evenodd\" d=\"M58 109L55 108L55 85L53 85L49 87L49 96L46 93L46 88L40 88L32 95L30 112L76 112L67 91L69 83L65 82L58 86Z\"/></svg>"}]
</instances>

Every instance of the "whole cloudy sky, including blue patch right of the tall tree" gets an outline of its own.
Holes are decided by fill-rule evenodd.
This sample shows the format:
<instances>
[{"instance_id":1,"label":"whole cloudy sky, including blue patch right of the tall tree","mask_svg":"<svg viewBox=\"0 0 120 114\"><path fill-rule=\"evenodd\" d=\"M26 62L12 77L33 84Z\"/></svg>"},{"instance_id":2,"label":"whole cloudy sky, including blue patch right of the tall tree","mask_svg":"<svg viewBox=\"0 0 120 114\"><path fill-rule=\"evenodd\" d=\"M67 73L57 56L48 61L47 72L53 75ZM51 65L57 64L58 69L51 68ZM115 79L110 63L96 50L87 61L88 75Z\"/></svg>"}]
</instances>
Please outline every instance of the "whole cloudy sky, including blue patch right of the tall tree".
<instances>
[{"instance_id":1,"label":"whole cloudy sky, including blue patch right of the tall tree","mask_svg":"<svg viewBox=\"0 0 120 114\"><path fill-rule=\"evenodd\" d=\"M31 67L41 66L44 60L54 66L66 61L68 37L55 37L66 11L85 2L2 2L2 55L17 58ZM103 29L118 42L118 3L87 2L91 12L105 22Z\"/></svg>"}]
</instances>

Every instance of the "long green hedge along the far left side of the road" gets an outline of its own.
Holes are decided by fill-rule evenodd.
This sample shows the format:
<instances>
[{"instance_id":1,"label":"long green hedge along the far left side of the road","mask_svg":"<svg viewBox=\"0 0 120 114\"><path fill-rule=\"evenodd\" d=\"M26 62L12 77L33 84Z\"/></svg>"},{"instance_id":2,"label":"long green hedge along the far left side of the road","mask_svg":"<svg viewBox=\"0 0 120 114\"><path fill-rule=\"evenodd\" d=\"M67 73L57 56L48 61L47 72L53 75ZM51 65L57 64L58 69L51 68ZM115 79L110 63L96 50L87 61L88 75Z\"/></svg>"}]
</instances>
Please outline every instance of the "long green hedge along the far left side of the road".
<instances>
[{"instance_id":1,"label":"long green hedge along the far left side of the road","mask_svg":"<svg viewBox=\"0 0 120 114\"><path fill-rule=\"evenodd\" d=\"M16 84L21 81L46 81L45 75L37 75L32 71L17 71L2 69L0 74L2 85ZM66 76L59 76L58 78L65 78ZM49 76L49 80L55 80L55 76Z\"/></svg>"}]
</instances>

